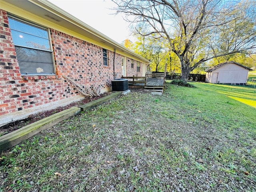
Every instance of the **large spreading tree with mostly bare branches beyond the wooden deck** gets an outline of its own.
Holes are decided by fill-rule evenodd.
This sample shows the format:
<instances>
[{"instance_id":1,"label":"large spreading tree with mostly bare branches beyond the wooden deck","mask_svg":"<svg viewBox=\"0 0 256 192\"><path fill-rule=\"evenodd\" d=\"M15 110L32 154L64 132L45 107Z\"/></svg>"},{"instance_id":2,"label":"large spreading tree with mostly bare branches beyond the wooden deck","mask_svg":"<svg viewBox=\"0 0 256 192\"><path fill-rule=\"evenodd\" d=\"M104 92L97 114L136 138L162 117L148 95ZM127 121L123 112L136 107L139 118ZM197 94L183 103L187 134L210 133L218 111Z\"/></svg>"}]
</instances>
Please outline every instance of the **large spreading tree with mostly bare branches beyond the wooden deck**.
<instances>
[{"instance_id":1,"label":"large spreading tree with mostly bare branches beyond the wooden deck","mask_svg":"<svg viewBox=\"0 0 256 192\"><path fill-rule=\"evenodd\" d=\"M168 42L182 79L200 64L256 48L256 1L112 0L134 32ZM143 29L143 30L142 30Z\"/></svg>"}]
</instances>

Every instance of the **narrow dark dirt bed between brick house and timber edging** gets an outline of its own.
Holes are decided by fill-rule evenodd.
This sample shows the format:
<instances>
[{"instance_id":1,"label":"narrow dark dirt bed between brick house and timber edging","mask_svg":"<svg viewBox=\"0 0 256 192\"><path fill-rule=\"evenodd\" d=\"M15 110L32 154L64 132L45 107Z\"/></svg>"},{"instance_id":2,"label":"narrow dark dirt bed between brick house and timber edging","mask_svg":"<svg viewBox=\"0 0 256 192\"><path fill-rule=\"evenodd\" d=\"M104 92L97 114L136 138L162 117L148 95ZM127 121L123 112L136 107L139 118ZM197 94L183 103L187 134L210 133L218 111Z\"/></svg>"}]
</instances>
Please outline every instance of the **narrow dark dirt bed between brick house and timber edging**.
<instances>
[{"instance_id":1,"label":"narrow dark dirt bed between brick house and timber edging","mask_svg":"<svg viewBox=\"0 0 256 192\"><path fill-rule=\"evenodd\" d=\"M33 115L30 115L26 119L11 122L9 124L6 124L6 125L0 127L0 136L5 135L5 134L7 134L9 132L12 132L14 130L17 130L19 128L22 128L23 126L26 126L28 124L34 123L34 122L36 122L38 120L41 120L43 118L46 118L48 116L51 116L52 114L55 114L55 113L61 112L63 110L69 109L73 106L80 106L80 105L86 104L88 102L97 100L97 99L102 98L104 96L107 96L108 94L109 93L104 93L104 94L101 94L100 96L96 96L96 97L93 97L93 98L84 98L81 101L73 102L73 103L68 104L66 106L61 106L61 107L58 107L58 108L55 108L55 109L52 109L52 110L40 112L38 114L33 114Z\"/></svg>"}]
</instances>

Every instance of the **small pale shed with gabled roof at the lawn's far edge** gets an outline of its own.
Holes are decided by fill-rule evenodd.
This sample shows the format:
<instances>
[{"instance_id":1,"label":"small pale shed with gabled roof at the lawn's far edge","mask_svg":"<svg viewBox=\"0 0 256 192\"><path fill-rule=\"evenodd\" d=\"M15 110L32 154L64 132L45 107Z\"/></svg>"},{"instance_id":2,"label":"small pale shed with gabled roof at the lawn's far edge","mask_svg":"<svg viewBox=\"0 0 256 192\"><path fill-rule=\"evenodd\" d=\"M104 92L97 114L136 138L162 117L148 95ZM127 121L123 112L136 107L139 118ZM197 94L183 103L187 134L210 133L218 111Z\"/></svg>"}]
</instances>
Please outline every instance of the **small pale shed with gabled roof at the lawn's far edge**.
<instances>
[{"instance_id":1,"label":"small pale shed with gabled roof at the lawn's far edge","mask_svg":"<svg viewBox=\"0 0 256 192\"><path fill-rule=\"evenodd\" d=\"M206 82L245 85L249 70L234 61L223 62L206 70Z\"/></svg>"}]
</instances>

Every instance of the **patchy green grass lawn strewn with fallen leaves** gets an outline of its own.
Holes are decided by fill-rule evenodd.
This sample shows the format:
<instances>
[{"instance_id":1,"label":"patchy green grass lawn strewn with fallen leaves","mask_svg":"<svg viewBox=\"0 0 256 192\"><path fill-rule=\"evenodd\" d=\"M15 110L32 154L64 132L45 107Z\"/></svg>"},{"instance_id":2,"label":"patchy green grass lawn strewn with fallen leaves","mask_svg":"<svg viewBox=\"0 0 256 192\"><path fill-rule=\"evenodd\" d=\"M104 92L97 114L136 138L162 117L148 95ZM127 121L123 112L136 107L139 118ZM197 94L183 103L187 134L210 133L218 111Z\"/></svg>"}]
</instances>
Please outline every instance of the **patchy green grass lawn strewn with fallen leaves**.
<instances>
[{"instance_id":1,"label":"patchy green grass lawn strewn with fallen leaves","mask_svg":"<svg viewBox=\"0 0 256 192\"><path fill-rule=\"evenodd\" d=\"M256 89L167 83L1 154L0 191L256 191Z\"/></svg>"}]
</instances>

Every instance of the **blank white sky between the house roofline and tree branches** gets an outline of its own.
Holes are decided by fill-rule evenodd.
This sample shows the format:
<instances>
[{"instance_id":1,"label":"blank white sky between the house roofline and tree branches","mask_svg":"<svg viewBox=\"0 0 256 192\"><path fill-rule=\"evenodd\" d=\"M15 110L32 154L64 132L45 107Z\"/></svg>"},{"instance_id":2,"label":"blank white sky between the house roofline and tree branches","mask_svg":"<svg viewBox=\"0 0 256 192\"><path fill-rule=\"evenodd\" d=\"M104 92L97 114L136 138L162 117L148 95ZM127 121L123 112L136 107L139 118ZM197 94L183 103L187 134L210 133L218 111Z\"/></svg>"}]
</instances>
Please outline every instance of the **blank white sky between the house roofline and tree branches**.
<instances>
[{"instance_id":1,"label":"blank white sky between the house roofline and tree branches","mask_svg":"<svg viewBox=\"0 0 256 192\"><path fill-rule=\"evenodd\" d=\"M114 15L114 10L110 10L115 6L111 0L48 1L118 43L127 38L132 39L128 29L129 23L121 15Z\"/></svg>"}]
</instances>

